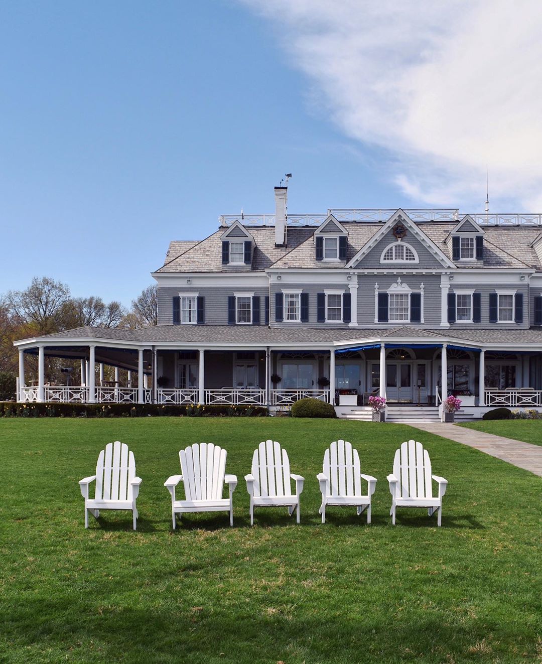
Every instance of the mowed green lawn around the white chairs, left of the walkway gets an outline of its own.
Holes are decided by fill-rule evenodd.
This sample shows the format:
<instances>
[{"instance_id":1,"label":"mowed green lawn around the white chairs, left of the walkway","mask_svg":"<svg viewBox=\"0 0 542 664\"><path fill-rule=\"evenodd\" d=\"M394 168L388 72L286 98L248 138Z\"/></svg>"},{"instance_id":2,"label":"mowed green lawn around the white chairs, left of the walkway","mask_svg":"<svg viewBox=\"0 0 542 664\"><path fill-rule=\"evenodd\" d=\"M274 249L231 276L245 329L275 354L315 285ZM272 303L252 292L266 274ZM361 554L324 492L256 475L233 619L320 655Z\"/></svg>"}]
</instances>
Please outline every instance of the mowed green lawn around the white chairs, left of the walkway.
<instances>
[{"instance_id":1,"label":"mowed green lawn around the white chairs, left of the walkway","mask_svg":"<svg viewBox=\"0 0 542 664\"><path fill-rule=\"evenodd\" d=\"M540 480L408 426L286 418L0 420L0 660L6 662L533 662L542 656ZM302 523L260 509L243 476L262 440L306 478ZM337 438L378 478L373 523L330 508L316 474ZM442 528L424 510L391 526L386 475L421 440L449 481ZM139 524L83 527L78 480L121 440L143 478ZM228 450L226 513L171 531L165 479L193 442Z\"/></svg>"}]
</instances>

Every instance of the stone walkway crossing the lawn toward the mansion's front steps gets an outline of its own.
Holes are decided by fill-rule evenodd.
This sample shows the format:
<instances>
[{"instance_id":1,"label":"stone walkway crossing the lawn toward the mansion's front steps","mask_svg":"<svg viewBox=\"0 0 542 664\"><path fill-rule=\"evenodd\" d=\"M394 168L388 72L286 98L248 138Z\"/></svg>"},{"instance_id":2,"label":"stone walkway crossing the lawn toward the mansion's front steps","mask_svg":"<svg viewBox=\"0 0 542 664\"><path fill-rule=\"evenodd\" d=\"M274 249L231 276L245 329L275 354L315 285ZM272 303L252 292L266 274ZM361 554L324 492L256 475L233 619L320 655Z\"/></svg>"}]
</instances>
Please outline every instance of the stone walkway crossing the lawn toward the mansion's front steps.
<instances>
[{"instance_id":1,"label":"stone walkway crossing the lawn toward the mansion's front steps","mask_svg":"<svg viewBox=\"0 0 542 664\"><path fill-rule=\"evenodd\" d=\"M444 424L444 422L418 422L412 423L410 426L442 436L442 438L456 440L458 443L468 445L470 448L490 454L542 477L542 446L466 429L455 424Z\"/></svg>"}]
</instances>

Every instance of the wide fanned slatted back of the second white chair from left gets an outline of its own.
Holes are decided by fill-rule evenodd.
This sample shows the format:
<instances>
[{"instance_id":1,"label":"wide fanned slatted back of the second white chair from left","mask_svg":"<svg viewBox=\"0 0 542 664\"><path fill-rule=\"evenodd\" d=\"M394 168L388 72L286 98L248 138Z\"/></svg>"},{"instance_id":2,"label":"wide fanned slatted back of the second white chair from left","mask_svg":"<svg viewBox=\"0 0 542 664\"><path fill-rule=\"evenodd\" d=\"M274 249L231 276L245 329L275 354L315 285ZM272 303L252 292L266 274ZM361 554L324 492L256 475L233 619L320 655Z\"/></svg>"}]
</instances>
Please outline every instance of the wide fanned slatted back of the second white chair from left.
<instances>
[{"instance_id":1,"label":"wide fanned slatted back of the second white chair from left","mask_svg":"<svg viewBox=\"0 0 542 664\"><path fill-rule=\"evenodd\" d=\"M222 498L226 450L213 443L194 443L179 452L187 500Z\"/></svg>"}]
</instances>

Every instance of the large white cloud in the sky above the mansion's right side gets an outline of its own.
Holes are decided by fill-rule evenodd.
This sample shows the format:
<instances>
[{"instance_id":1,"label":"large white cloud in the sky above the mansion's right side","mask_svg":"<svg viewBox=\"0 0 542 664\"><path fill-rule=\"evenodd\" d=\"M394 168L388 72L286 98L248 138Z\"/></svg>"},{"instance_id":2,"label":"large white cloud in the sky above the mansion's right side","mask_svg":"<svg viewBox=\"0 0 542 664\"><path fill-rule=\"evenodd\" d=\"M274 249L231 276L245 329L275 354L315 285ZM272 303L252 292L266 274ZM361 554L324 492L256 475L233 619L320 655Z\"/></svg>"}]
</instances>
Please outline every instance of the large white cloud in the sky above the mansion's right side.
<instances>
[{"instance_id":1,"label":"large white cloud in the sky above the mansion's right side","mask_svg":"<svg viewBox=\"0 0 542 664\"><path fill-rule=\"evenodd\" d=\"M542 211L542 3L240 0L411 199ZM536 209L535 209L536 208Z\"/></svg>"}]
</instances>

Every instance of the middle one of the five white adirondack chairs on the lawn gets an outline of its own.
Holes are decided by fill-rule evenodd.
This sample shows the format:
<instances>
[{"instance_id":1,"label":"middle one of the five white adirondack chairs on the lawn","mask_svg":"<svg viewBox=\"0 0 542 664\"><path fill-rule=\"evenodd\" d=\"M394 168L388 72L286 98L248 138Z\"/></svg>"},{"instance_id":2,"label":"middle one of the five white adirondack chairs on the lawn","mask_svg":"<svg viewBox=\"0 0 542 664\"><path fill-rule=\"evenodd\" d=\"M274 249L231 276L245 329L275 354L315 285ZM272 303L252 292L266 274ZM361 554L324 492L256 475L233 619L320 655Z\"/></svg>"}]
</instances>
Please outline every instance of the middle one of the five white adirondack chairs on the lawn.
<instances>
[{"instance_id":1,"label":"middle one of the five white adirondack chairs on the lawn","mask_svg":"<svg viewBox=\"0 0 542 664\"><path fill-rule=\"evenodd\" d=\"M278 442L267 440L258 445L252 455L252 470L245 475L246 491L250 495L250 525L254 524L254 507L288 507L290 516L297 509L300 522L300 495L305 478L290 473L290 460ZM296 481L296 495L292 494L290 479Z\"/></svg>"}]
</instances>

